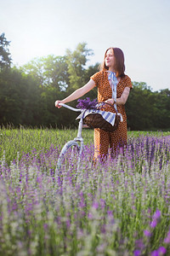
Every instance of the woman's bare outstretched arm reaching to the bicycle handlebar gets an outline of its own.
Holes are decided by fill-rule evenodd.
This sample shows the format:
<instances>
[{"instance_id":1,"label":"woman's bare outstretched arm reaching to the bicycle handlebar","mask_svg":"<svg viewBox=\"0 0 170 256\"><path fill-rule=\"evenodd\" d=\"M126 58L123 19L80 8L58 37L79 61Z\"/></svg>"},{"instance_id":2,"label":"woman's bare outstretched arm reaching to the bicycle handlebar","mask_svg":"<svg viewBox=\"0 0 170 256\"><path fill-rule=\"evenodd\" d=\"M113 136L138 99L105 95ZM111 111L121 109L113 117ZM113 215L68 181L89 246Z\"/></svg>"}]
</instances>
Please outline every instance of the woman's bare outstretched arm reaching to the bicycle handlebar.
<instances>
[{"instance_id":1,"label":"woman's bare outstretched arm reaching to the bicycle handlebar","mask_svg":"<svg viewBox=\"0 0 170 256\"><path fill-rule=\"evenodd\" d=\"M90 79L87 84L85 84L81 88L75 90L73 93L71 93L70 96L66 97L64 100L62 100L62 101L57 100L55 102L55 107L60 108L61 106L59 106L59 103L72 102L72 101L82 97L83 95L88 93L89 90L92 90L94 88L94 86L95 86L94 80Z\"/></svg>"}]
</instances>

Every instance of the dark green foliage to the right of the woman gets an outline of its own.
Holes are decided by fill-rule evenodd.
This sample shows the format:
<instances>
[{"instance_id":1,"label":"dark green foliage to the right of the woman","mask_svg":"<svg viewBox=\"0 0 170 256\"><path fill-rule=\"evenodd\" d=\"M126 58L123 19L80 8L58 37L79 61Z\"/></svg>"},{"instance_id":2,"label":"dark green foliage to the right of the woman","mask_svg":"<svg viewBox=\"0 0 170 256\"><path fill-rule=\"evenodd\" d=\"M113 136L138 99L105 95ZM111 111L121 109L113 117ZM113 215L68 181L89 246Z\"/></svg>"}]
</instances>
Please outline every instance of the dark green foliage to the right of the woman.
<instances>
[{"instance_id":1,"label":"dark green foliage to the right of the woman","mask_svg":"<svg viewBox=\"0 0 170 256\"><path fill-rule=\"evenodd\" d=\"M127 100L127 125L131 130L170 128L170 90L152 92L145 83L133 82Z\"/></svg>"}]
</instances>

